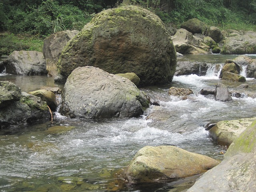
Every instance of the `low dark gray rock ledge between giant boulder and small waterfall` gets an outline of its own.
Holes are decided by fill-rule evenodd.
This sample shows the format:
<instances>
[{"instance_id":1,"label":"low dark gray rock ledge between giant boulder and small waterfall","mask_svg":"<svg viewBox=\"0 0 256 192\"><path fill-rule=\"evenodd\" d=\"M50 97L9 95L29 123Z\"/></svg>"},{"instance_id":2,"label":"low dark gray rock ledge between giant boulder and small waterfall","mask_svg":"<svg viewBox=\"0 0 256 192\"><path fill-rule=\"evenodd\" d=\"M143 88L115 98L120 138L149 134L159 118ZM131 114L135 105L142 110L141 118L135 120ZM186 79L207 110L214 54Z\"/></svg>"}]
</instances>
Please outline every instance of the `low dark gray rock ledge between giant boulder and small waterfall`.
<instances>
[{"instance_id":1,"label":"low dark gray rock ledge between giant boulder and small waterfall","mask_svg":"<svg viewBox=\"0 0 256 192\"><path fill-rule=\"evenodd\" d=\"M198 76L206 75L206 72L211 64L206 62L192 62L192 61L178 61L175 75L190 75L196 74Z\"/></svg>"}]
</instances>

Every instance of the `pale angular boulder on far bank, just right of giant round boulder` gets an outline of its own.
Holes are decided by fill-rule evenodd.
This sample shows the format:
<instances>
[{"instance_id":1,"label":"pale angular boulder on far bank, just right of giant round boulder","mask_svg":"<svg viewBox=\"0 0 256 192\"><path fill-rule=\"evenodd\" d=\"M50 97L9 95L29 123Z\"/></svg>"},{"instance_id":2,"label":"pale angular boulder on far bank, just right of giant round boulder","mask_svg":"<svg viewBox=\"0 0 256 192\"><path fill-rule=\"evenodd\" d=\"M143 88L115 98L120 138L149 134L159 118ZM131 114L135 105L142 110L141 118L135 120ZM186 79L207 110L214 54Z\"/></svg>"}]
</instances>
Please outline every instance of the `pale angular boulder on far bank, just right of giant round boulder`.
<instances>
[{"instance_id":1,"label":"pale angular boulder on far bank, just right of giant round boulder","mask_svg":"<svg viewBox=\"0 0 256 192\"><path fill-rule=\"evenodd\" d=\"M193 36L191 32L180 28L176 34L172 36L172 42L177 52L181 54L209 54L209 46L203 43L203 40Z\"/></svg>"}]
</instances>

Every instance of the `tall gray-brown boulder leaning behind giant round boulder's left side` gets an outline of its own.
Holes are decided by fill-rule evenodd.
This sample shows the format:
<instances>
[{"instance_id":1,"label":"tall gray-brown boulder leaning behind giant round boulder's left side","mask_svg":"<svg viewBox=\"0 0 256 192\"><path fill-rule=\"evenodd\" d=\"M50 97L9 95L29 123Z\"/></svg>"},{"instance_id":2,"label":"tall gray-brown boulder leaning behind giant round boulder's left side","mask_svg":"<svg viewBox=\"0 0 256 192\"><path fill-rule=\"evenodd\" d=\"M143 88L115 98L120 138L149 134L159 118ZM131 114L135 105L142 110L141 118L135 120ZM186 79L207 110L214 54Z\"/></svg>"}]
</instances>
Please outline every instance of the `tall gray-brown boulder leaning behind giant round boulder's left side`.
<instances>
[{"instance_id":1,"label":"tall gray-brown boulder leaning behind giant round boulder's left side","mask_svg":"<svg viewBox=\"0 0 256 192\"><path fill-rule=\"evenodd\" d=\"M78 30L66 30L51 34L44 39L43 54L46 60L46 70L48 76L57 76L58 74L58 60L62 49L70 39L78 34Z\"/></svg>"}]
</instances>

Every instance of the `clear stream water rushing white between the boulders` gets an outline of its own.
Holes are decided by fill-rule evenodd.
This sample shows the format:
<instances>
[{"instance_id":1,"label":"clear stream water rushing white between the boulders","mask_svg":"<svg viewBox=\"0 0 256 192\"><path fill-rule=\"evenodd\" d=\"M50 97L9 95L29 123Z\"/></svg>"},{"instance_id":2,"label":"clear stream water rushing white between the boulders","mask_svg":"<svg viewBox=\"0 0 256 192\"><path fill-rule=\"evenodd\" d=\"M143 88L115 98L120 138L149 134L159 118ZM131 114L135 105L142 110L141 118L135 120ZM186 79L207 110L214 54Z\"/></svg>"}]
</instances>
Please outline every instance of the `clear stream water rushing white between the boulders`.
<instances>
[{"instance_id":1,"label":"clear stream water rushing white between the boulders","mask_svg":"<svg viewBox=\"0 0 256 192\"><path fill-rule=\"evenodd\" d=\"M202 60L223 64L236 56L196 55L180 60ZM241 83L219 80L209 69L206 76L175 76L165 86L150 86L143 90L159 101L140 118L83 120L70 119L56 112L54 122L38 122L0 130L0 191L120 191L171 192L184 191L198 176L157 182L129 184L118 178L119 170L127 166L144 146L172 145L190 152L222 160L223 146L216 145L204 125L208 122L255 116L256 99L233 97L230 102L218 102L197 94L206 86L218 82L236 90ZM10 76L0 74L29 92L41 86L58 86L47 76ZM256 80L247 79L249 91L256 90ZM171 86L192 88L196 93L187 100L168 96ZM160 114L155 121L153 114ZM147 118L149 117L149 118ZM150 118L152 117L152 118ZM54 131L62 126L66 131Z\"/></svg>"}]
</instances>

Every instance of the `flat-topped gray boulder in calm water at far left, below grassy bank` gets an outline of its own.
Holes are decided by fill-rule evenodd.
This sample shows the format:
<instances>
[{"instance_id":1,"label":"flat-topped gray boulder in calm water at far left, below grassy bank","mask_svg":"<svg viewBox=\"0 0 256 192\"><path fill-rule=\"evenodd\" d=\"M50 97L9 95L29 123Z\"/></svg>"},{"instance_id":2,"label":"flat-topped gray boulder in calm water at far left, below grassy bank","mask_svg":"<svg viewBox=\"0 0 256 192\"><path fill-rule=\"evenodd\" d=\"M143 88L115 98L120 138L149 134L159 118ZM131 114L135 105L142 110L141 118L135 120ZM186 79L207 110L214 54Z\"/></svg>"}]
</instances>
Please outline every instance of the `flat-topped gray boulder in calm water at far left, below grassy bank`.
<instances>
[{"instance_id":1,"label":"flat-topped gray boulder in calm water at far left, below grassy bank","mask_svg":"<svg viewBox=\"0 0 256 192\"><path fill-rule=\"evenodd\" d=\"M8 56L6 73L13 75L46 75L46 61L42 52L14 51Z\"/></svg>"}]
</instances>

